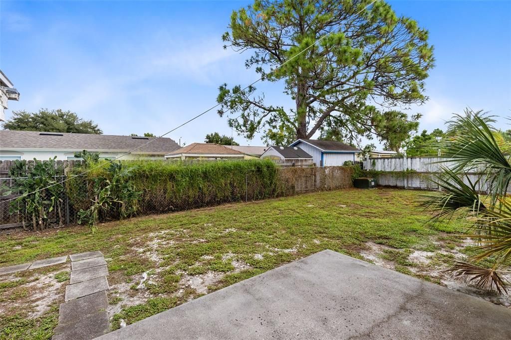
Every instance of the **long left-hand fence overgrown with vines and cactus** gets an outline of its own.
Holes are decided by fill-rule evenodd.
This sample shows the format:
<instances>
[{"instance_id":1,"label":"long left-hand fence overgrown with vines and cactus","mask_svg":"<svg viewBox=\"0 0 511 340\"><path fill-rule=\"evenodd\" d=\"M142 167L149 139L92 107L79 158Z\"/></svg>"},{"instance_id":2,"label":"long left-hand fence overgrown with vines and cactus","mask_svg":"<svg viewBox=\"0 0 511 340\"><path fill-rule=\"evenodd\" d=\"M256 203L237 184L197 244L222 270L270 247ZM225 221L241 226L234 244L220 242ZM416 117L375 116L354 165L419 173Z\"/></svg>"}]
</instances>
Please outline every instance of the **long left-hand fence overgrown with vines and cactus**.
<instances>
[{"instance_id":1,"label":"long left-hand fence overgrown with vines and cactus","mask_svg":"<svg viewBox=\"0 0 511 340\"><path fill-rule=\"evenodd\" d=\"M224 176L170 180L138 173L133 175L136 180L131 191L125 182L116 183L111 178L59 175L46 179L52 183L51 188L30 195L24 195L31 192L24 183L37 181L37 177L0 178L0 230L37 231L86 224L87 216L101 223L351 186L351 172L345 167L288 167L270 169L268 173L262 168L233 171L236 173Z\"/></svg>"}]
</instances>

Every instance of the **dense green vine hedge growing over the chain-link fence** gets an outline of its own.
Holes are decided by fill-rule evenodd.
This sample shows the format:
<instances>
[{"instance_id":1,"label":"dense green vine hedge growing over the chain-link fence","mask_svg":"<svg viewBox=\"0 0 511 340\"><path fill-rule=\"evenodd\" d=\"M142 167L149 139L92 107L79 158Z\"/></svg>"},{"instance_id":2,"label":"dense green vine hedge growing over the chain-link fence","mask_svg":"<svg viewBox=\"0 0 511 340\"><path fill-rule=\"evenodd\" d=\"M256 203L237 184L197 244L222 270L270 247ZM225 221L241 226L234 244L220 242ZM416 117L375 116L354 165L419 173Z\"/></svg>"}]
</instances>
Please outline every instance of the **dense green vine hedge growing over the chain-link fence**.
<instances>
[{"instance_id":1,"label":"dense green vine hedge growing over the chain-link fence","mask_svg":"<svg viewBox=\"0 0 511 340\"><path fill-rule=\"evenodd\" d=\"M142 191L138 214L277 196L277 168L270 160L208 161L194 164L168 161L122 163L132 167L130 180L137 190ZM68 196L77 210L90 204L94 179L108 177L106 167L105 162L105 166L67 182ZM73 174L79 174L84 169L75 168Z\"/></svg>"}]
</instances>

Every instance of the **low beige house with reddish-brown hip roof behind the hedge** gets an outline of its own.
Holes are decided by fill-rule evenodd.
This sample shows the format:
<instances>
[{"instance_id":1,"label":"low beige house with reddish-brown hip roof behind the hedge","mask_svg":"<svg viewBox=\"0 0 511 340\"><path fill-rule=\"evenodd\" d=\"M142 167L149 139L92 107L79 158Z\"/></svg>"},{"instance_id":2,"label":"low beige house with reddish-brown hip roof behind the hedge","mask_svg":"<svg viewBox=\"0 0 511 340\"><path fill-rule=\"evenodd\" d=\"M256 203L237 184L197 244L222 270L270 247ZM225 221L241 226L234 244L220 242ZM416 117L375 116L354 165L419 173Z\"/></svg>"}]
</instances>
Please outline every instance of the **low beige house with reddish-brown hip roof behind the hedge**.
<instances>
[{"instance_id":1,"label":"low beige house with reddish-brown hip roof behind the hedge","mask_svg":"<svg viewBox=\"0 0 511 340\"><path fill-rule=\"evenodd\" d=\"M192 143L165 155L167 159L244 159L245 154L230 146L214 143Z\"/></svg>"}]
</instances>

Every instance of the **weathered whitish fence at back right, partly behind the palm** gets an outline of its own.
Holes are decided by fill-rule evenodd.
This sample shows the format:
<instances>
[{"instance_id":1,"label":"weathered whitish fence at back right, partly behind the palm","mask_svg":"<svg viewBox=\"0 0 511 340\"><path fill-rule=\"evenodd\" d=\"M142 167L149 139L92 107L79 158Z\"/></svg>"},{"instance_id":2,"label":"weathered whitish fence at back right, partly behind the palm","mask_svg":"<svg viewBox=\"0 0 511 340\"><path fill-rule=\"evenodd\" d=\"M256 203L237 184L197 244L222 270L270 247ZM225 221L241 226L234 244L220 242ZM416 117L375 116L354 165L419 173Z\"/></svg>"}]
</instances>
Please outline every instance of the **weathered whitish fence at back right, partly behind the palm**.
<instances>
[{"instance_id":1,"label":"weathered whitish fence at back right, partly behind the palm","mask_svg":"<svg viewBox=\"0 0 511 340\"><path fill-rule=\"evenodd\" d=\"M445 157L401 157L401 158L368 158L364 161L364 169L384 172L377 176L378 185L394 186L399 188L438 190L432 177L440 171L440 167L450 167L449 158ZM416 173L406 174L406 171ZM388 174L385 174L388 172ZM467 173L464 182L474 183L482 175L476 169ZM485 187L478 187L479 191L486 191Z\"/></svg>"}]
</instances>

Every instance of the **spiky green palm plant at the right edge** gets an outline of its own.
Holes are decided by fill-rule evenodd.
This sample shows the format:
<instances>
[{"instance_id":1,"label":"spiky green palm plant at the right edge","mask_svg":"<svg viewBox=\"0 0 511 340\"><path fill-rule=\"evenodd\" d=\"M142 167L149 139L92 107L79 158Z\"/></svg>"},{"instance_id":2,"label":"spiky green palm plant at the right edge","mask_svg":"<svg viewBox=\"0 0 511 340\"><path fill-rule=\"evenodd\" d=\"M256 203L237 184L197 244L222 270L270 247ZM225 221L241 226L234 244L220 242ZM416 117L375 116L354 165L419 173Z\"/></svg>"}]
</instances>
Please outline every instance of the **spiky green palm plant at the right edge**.
<instances>
[{"instance_id":1,"label":"spiky green palm plant at the right edge","mask_svg":"<svg viewBox=\"0 0 511 340\"><path fill-rule=\"evenodd\" d=\"M456 262L448 271L501 293L507 292L502 267L511 256L511 202L506 198L511 164L495 139L494 122L486 113L470 109L448 122L448 137L440 143L449 160L434 178L442 191L424 195L421 206L434 213L433 221L451 218L458 211L472 215L466 236L477 244L478 253L471 258L475 263ZM469 173L476 173L477 179L470 180ZM496 259L492 268L477 264L490 257Z\"/></svg>"}]
</instances>

